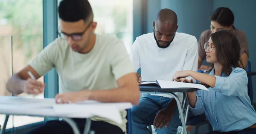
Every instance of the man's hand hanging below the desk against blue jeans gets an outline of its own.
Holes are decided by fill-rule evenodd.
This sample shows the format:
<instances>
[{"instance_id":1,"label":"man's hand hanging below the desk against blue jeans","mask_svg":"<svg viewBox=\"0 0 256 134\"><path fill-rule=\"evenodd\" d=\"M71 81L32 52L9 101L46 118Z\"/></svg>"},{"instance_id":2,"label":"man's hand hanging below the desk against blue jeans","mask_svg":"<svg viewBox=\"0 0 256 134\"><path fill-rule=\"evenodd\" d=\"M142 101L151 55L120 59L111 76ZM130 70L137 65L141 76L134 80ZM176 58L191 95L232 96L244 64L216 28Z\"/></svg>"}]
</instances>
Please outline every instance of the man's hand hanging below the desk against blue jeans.
<instances>
[{"instance_id":1,"label":"man's hand hanging below the desk against blue jeans","mask_svg":"<svg viewBox=\"0 0 256 134\"><path fill-rule=\"evenodd\" d=\"M167 127L170 123L173 113L174 113L174 109L163 108L160 111L158 111L153 123L154 128L161 129L163 128L164 124L165 124L165 127Z\"/></svg>"}]
</instances>

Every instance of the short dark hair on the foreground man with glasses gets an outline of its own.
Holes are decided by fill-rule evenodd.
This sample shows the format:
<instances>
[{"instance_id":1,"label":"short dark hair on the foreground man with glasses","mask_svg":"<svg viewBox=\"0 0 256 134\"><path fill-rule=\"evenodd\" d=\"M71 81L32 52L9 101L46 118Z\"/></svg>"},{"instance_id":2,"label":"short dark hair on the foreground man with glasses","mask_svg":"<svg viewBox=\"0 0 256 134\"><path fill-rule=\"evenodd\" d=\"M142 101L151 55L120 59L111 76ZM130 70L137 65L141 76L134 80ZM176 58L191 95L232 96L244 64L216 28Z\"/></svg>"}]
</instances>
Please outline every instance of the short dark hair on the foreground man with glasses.
<instances>
[{"instance_id":1,"label":"short dark hair on the foreground man with glasses","mask_svg":"<svg viewBox=\"0 0 256 134\"><path fill-rule=\"evenodd\" d=\"M88 0L62 0L58 6L58 15L66 22L86 22L93 15L93 10Z\"/></svg>"}]
</instances>

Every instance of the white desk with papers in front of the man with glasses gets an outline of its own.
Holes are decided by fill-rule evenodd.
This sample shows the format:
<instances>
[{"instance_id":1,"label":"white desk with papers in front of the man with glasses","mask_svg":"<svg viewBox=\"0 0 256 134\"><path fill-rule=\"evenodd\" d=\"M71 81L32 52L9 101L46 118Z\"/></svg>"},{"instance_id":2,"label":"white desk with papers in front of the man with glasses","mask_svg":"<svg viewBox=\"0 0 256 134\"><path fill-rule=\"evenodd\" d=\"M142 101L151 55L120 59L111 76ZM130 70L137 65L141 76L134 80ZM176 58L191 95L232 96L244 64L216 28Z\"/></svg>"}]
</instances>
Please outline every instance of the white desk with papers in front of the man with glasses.
<instances>
[{"instance_id":1,"label":"white desk with papers in front of the man with glasses","mask_svg":"<svg viewBox=\"0 0 256 134\"><path fill-rule=\"evenodd\" d=\"M130 109L131 103L100 103L87 100L72 104L56 104L53 98L20 98L0 96L0 114L28 115L40 117L61 117L72 127L74 134L80 134L71 118L86 118L84 134L90 130L90 117L105 117L116 123L122 123L121 110ZM4 127L3 127L4 128ZM1 130L1 133L5 131Z\"/></svg>"}]
</instances>

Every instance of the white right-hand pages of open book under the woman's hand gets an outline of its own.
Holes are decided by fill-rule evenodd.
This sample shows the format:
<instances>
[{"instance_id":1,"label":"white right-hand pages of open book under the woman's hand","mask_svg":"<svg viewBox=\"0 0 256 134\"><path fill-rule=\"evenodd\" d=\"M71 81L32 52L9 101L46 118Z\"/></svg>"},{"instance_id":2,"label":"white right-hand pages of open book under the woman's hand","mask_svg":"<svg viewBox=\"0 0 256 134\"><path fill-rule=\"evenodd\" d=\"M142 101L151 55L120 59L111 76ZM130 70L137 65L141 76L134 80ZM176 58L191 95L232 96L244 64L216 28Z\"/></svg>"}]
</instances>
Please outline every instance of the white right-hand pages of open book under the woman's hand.
<instances>
[{"instance_id":1,"label":"white right-hand pages of open book under the woman's hand","mask_svg":"<svg viewBox=\"0 0 256 134\"><path fill-rule=\"evenodd\" d=\"M163 81L163 80L157 80L157 83L160 85L162 89L165 88L197 88L197 89L203 89L209 91L206 87L204 87L201 84L193 84L193 83L184 83L184 82L176 82L176 81Z\"/></svg>"}]
</instances>

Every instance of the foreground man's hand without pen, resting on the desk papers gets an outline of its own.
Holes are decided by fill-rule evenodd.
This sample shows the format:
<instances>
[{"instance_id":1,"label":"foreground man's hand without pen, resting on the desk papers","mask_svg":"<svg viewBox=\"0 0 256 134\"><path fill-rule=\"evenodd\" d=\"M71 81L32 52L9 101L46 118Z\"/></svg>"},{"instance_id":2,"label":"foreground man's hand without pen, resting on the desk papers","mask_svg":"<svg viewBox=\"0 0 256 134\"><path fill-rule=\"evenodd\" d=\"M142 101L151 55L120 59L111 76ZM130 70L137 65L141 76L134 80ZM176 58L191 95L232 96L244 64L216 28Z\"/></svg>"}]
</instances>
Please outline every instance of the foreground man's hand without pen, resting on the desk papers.
<instances>
[{"instance_id":1,"label":"foreground man's hand without pen, resting on the desk papers","mask_svg":"<svg viewBox=\"0 0 256 134\"><path fill-rule=\"evenodd\" d=\"M88 100L90 90L82 90L79 92L66 92L55 96L56 103L75 103L77 101Z\"/></svg>"}]
</instances>

